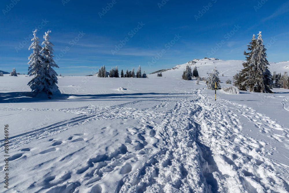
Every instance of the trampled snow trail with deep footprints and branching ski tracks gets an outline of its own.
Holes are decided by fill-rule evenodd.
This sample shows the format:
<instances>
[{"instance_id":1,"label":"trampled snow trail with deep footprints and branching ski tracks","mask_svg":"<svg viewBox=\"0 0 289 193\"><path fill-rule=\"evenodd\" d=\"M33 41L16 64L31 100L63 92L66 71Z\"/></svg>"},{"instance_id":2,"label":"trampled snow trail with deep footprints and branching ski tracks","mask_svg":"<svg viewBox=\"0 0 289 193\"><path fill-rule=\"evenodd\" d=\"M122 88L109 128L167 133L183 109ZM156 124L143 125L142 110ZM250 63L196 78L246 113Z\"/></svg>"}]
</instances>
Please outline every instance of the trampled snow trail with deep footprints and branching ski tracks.
<instances>
[{"instance_id":1,"label":"trampled snow trail with deep footprints and branching ski tracks","mask_svg":"<svg viewBox=\"0 0 289 193\"><path fill-rule=\"evenodd\" d=\"M164 97L150 100L162 98ZM166 99L148 109L133 109L127 106L150 100L110 107L89 105L71 109L1 110L62 111L81 115L11 137L10 144L13 144L13 148L51 137L74 126L89 124L92 120L134 119L143 123L135 128L128 128L125 144L110 155L90 158L85 166L68 171L57 179L48 173L43 177L43 188L37 192L48 188L56 192L79 192L77 189L80 186L89 189L89 192L102 192L101 183L105 183L115 167L121 167L122 174L114 190L110 190L116 193L289 191L289 181L286 178L288 168L284 169L286 165L275 163L268 158L268 152L264 149L267 144L264 141L257 141L242 133L247 123L240 121L240 117L259 128L262 135L287 144L285 148L289 150L287 128L245 105L226 100L212 101L202 90L192 89L185 97ZM284 100L285 106L288 99ZM174 108L166 109L169 105ZM157 123L153 121L155 119L162 121ZM276 134L276 130L279 134ZM80 138L70 137L67 140L84 140L82 135L85 134L75 134ZM55 151L54 147L63 141L53 142L51 148L40 154ZM27 151L30 149L22 149L21 153L10 159L23 157ZM69 156L71 155L63 157L62 160ZM78 175L77 179L80 180L67 183L73 175ZM49 183L50 181L53 183ZM34 184L31 184L29 187L33 186Z\"/></svg>"}]
</instances>

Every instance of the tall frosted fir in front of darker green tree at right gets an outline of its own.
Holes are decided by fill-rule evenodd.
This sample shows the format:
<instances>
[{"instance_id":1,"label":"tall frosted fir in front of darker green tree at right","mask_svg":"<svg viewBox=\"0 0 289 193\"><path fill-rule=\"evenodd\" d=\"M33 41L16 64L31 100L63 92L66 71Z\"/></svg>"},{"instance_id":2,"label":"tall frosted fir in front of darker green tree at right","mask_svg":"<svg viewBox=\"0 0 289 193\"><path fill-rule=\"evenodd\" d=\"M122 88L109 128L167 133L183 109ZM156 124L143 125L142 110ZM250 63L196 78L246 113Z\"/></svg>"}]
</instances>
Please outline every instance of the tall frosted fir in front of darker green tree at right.
<instances>
[{"instance_id":1,"label":"tall frosted fir in front of darker green tree at right","mask_svg":"<svg viewBox=\"0 0 289 193\"><path fill-rule=\"evenodd\" d=\"M251 69L244 73L245 81L242 85L249 87L250 92L272 93L272 75L268 70L266 48L263 45L261 32L258 34L256 46L251 52L249 66Z\"/></svg>"}]
</instances>

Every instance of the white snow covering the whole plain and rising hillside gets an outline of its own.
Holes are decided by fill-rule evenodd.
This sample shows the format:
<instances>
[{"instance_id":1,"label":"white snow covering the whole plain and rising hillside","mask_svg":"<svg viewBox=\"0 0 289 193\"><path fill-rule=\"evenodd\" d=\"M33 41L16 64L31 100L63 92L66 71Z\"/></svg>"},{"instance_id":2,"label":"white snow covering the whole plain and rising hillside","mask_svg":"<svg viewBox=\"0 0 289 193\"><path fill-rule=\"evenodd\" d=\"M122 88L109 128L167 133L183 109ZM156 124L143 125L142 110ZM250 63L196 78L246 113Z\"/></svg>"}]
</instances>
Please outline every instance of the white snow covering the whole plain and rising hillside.
<instances>
[{"instance_id":1,"label":"white snow covering the whole plain and rising hillside","mask_svg":"<svg viewBox=\"0 0 289 193\"><path fill-rule=\"evenodd\" d=\"M216 65L222 87L242 69L195 62L204 77ZM288 192L289 90L218 90L215 101L204 82L181 80L185 66L146 79L59 77L54 100L28 97L31 77L0 77L1 192Z\"/></svg>"}]
</instances>

